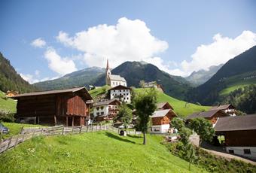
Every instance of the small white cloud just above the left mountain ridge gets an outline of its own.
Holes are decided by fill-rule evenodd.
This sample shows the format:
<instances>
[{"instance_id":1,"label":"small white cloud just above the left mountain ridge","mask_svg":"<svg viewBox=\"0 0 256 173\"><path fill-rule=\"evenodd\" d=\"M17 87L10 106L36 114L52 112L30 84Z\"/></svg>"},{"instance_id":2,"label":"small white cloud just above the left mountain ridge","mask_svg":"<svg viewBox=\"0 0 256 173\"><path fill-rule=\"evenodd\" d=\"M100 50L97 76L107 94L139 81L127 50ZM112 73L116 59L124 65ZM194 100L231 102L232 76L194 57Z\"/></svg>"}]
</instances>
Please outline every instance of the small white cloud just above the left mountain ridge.
<instances>
[{"instance_id":1,"label":"small white cloud just above the left mountain ridge","mask_svg":"<svg viewBox=\"0 0 256 173\"><path fill-rule=\"evenodd\" d=\"M44 57L48 61L49 68L58 74L64 75L78 70L75 67L75 62L67 57L62 58L53 48L48 48Z\"/></svg>"}]
</instances>

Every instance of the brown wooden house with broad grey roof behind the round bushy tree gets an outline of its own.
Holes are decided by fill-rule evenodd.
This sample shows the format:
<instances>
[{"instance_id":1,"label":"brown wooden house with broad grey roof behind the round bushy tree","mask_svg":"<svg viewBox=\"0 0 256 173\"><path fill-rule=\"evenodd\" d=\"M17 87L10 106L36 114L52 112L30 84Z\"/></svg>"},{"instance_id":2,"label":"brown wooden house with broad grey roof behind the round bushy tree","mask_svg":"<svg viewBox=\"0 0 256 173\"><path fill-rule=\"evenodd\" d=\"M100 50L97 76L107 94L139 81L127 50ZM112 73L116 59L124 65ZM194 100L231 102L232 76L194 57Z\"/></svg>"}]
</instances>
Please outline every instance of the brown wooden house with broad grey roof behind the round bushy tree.
<instances>
[{"instance_id":1,"label":"brown wooden house with broad grey roof behind the round bushy tree","mask_svg":"<svg viewBox=\"0 0 256 173\"><path fill-rule=\"evenodd\" d=\"M215 126L215 123L217 122L219 117L227 117L227 116L229 116L229 115L226 114L224 111L216 109L216 110L212 110L212 111L203 111L203 112L197 112L194 114L190 114L189 116L187 116L186 121L189 121L194 118L203 117L206 120L211 121L212 125Z\"/></svg>"}]
</instances>

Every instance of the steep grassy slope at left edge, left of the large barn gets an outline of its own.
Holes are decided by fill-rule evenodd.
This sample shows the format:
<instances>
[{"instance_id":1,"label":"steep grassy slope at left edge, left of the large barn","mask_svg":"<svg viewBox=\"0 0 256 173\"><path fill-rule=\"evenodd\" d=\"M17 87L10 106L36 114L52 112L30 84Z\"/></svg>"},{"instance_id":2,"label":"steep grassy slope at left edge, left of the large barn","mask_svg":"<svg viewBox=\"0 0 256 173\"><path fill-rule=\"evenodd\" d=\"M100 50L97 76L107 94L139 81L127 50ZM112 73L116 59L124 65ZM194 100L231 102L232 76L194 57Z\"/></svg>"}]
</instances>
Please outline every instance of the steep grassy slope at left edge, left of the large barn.
<instances>
[{"instance_id":1,"label":"steep grassy slope at left edge, left of the large barn","mask_svg":"<svg viewBox=\"0 0 256 173\"><path fill-rule=\"evenodd\" d=\"M5 93L0 91L0 110L16 113L17 102L14 99L4 99L4 98L5 98Z\"/></svg>"}]
</instances>

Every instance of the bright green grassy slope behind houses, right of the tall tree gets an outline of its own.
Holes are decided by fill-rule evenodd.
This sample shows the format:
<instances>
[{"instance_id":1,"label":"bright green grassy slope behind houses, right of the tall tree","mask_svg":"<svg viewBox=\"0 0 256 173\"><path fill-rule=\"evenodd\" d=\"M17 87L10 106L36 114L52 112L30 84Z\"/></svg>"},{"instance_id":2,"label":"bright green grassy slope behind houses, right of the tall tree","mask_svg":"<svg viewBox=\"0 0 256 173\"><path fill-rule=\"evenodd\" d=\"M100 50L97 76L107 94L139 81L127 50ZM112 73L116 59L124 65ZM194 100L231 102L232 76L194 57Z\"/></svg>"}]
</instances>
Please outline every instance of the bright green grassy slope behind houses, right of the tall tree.
<instances>
[{"instance_id":1,"label":"bright green grassy slope behind houses, right of the tall tree","mask_svg":"<svg viewBox=\"0 0 256 173\"><path fill-rule=\"evenodd\" d=\"M142 92L145 89L136 89L135 92ZM199 112L199 111L207 111L209 110L210 107L208 106L200 106L200 105L194 105L192 103L187 104L186 108L186 102L174 99L165 93L160 93L157 92L157 102L169 102L170 105L174 108L174 111L176 114L178 114L181 117L187 117L187 115L192 114L194 112Z\"/></svg>"}]
</instances>

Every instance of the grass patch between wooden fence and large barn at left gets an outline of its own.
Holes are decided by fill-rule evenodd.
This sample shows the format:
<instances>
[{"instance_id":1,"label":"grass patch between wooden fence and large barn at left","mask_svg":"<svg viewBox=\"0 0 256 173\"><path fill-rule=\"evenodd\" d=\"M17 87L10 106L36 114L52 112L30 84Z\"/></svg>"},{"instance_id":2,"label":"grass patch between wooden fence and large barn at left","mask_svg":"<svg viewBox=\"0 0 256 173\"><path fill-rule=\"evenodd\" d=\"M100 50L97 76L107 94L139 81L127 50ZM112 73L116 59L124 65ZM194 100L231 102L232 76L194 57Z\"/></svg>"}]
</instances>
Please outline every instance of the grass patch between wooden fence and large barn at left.
<instances>
[{"instance_id":1,"label":"grass patch between wooden fence and large barn at left","mask_svg":"<svg viewBox=\"0 0 256 173\"><path fill-rule=\"evenodd\" d=\"M12 135L17 135L20 132L20 129L22 127L38 127L41 125L38 124L24 124L24 123L3 123L5 126L8 127L8 129L10 130L10 132L8 134L5 134L3 137L4 138L9 138Z\"/></svg>"}]
</instances>

